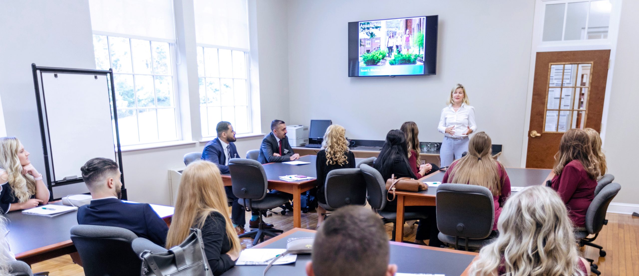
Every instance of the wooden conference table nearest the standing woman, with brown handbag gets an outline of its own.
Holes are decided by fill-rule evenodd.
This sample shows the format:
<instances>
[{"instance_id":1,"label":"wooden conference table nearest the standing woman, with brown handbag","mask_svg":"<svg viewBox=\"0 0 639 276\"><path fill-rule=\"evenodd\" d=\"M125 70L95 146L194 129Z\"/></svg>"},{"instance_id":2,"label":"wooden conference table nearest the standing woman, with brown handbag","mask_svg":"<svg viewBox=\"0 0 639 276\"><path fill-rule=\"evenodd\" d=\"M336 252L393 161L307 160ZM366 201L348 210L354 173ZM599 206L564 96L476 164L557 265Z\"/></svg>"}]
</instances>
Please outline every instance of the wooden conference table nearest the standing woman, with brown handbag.
<instances>
[{"instance_id":1,"label":"wooden conference table nearest the standing woman, with brown handbag","mask_svg":"<svg viewBox=\"0 0 639 276\"><path fill-rule=\"evenodd\" d=\"M528 187L533 185L541 185L551 169L527 169L527 168L513 168L506 167L506 172L511 180L511 187ZM436 171L420 178L422 181L427 182L441 182L444 173ZM435 206L435 195L437 194L437 187L429 187L422 192L401 192L396 191L397 195L397 222L404 221L404 207L405 206ZM395 226L395 241L403 241L404 236L404 224L396 223Z\"/></svg>"}]
</instances>

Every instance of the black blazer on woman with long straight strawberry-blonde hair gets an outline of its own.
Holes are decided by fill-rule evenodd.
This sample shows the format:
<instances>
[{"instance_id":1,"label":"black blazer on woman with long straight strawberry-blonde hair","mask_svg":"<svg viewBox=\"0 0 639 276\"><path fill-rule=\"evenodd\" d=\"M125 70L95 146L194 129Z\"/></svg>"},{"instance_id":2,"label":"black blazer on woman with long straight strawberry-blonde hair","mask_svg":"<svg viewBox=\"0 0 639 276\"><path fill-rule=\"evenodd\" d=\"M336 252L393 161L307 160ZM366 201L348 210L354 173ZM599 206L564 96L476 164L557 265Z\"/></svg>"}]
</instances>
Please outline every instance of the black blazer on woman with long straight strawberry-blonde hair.
<instances>
[{"instance_id":1,"label":"black blazer on woman with long straight strawberry-blonde hair","mask_svg":"<svg viewBox=\"0 0 639 276\"><path fill-rule=\"evenodd\" d=\"M194 226L196 227L196 226ZM217 211L211 212L202 226L204 253L213 275L221 275L235 266L235 261L226 254L231 250L231 241L226 234L226 219Z\"/></svg>"}]
</instances>

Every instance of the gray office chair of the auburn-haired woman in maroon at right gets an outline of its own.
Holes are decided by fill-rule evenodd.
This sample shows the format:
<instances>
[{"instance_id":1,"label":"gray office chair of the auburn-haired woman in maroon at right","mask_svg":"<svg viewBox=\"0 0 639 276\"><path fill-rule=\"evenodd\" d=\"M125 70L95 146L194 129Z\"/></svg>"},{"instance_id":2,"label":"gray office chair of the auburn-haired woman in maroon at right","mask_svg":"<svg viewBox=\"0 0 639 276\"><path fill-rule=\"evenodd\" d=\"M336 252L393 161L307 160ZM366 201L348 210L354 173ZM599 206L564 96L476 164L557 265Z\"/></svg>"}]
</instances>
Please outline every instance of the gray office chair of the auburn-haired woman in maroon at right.
<instances>
[{"instance_id":1,"label":"gray office chair of the auburn-haired woman in maroon at right","mask_svg":"<svg viewBox=\"0 0 639 276\"><path fill-rule=\"evenodd\" d=\"M607 174L606 174L607 175ZM599 187L599 185L597 185ZM599 231L603 228L604 225L608 224L608 220L606 219L606 211L608 211L608 205L617 194L619 194L619 190L621 190L621 185L619 183L610 183L605 187L601 188L599 193L595 195L595 198L592 199L592 203L588 207L586 211L586 231L579 231L574 233L575 238L579 240L579 246L583 247L584 245L588 245L599 249L599 256L605 257L606 251L603 250L601 245L597 245L592 243L597 236L599 236ZM592 238L587 238L590 234L594 234L595 236ZM593 264L594 260L586 259L590 262L590 268L593 273L599 275L600 272L597 271L597 264Z\"/></svg>"}]
</instances>

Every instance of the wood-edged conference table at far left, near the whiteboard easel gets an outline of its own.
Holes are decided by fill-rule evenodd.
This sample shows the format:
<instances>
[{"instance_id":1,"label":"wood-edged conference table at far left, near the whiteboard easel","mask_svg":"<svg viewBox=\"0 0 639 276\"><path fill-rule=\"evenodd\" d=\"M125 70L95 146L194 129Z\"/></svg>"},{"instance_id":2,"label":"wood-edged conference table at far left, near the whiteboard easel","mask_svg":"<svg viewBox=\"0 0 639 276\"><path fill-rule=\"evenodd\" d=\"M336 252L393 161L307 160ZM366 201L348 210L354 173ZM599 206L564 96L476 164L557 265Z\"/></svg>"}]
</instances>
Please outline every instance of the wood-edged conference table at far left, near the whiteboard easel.
<instances>
[{"instance_id":1,"label":"wood-edged conference table at far left, near the whiteboard easel","mask_svg":"<svg viewBox=\"0 0 639 276\"><path fill-rule=\"evenodd\" d=\"M61 205L60 201L51 204ZM173 207L151 204L167 225L173 217ZM15 259L27 264L38 263L54 257L77 252L71 241L71 227L78 224L77 211L43 217L26 215L22 211L7 213L7 241Z\"/></svg>"}]
</instances>

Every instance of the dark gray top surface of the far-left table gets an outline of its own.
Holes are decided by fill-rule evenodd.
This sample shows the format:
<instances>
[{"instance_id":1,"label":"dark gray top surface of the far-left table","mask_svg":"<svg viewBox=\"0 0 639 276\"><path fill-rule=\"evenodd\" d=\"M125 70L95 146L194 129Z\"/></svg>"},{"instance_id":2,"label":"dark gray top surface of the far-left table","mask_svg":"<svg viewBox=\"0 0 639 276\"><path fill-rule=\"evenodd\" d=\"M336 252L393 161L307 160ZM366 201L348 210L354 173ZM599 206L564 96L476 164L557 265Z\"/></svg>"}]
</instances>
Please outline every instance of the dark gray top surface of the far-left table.
<instances>
[{"instance_id":1,"label":"dark gray top surface of the far-left table","mask_svg":"<svg viewBox=\"0 0 639 276\"><path fill-rule=\"evenodd\" d=\"M61 205L59 202L54 204ZM11 211L6 214L6 218L9 219L7 227L10 230L7 240L11 251L16 255L71 240L71 227L78 224L77 211L56 217L25 215L22 211Z\"/></svg>"}]
</instances>

